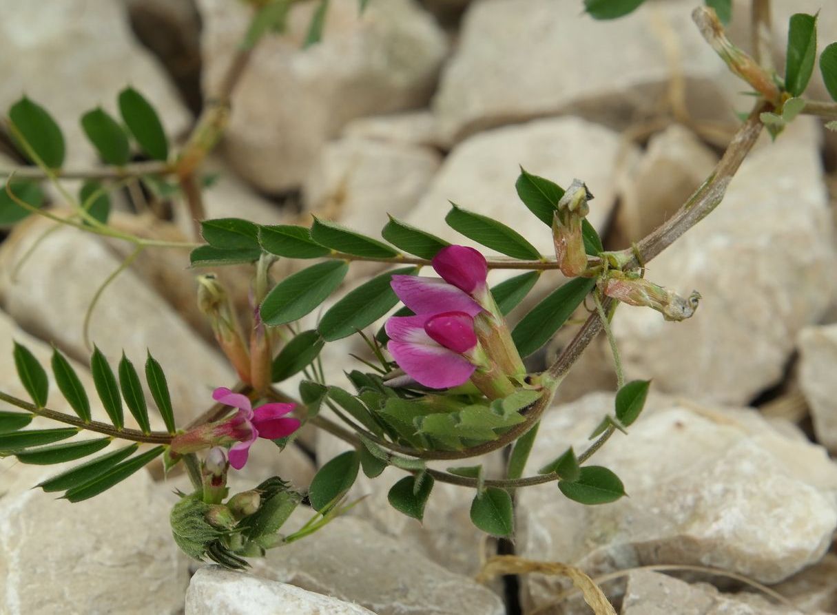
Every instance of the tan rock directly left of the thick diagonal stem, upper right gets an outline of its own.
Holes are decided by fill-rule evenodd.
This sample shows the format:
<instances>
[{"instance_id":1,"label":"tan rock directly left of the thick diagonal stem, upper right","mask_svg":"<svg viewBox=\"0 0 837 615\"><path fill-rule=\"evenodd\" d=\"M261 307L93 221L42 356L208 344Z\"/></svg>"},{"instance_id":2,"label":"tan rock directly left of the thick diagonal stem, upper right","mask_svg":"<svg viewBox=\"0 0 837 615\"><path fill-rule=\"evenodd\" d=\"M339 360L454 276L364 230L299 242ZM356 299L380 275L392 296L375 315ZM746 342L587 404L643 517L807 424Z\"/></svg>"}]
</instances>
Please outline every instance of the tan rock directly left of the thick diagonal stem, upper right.
<instances>
[{"instance_id":1,"label":"tan rock directly left of the thick diagonal stem, upper right","mask_svg":"<svg viewBox=\"0 0 837 615\"><path fill-rule=\"evenodd\" d=\"M671 218L709 177L718 157L688 129L673 125L651 137L619 202L625 238L639 241Z\"/></svg>"}]
</instances>

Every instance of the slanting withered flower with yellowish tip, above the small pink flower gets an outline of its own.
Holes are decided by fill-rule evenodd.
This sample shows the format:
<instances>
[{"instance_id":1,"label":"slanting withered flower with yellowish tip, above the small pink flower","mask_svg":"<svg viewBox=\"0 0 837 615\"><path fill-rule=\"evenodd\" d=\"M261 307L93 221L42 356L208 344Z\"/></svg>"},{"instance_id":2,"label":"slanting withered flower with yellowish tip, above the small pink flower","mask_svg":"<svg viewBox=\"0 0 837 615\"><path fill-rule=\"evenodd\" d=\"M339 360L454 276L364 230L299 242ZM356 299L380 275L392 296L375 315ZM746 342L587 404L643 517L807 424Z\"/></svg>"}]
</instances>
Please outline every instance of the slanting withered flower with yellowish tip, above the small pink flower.
<instances>
[{"instance_id":1,"label":"slanting withered flower with yellowish tip, above the small pink flower","mask_svg":"<svg viewBox=\"0 0 837 615\"><path fill-rule=\"evenodd\" d=\"M198 308L209 319L218 346L221 346L239 378L249 383L250 359L239 319L227 292L212 274L198 276Z\"/></svg>"}]
</instances>

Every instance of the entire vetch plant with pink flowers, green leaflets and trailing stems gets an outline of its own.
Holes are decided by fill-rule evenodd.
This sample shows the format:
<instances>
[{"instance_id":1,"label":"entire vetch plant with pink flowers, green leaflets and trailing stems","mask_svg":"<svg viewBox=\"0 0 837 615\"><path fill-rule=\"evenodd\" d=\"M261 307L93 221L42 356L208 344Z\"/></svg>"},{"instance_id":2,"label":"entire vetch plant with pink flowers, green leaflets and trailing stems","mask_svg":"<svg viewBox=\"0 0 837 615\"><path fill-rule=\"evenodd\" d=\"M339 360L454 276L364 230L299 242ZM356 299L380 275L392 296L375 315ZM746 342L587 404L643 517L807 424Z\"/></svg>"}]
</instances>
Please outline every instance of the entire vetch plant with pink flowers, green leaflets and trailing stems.
<instances>
[{"instance_id":1,"label":"entire vetch plant with pink flowers, green leaflets and trailing stems","mask_svg":"<svg viewBox=\"0 0 837 615\"><path fill-rule=\"evenodd\" d=\"M595 18L615 18L640 3L585 0L584 6ZM388 466L405 474L389 490L388 500L396 510L421 520L434 484L457 484L470 489L471 520L494 536L514 533L516 489L555 483L556 497L582 505L619 500L630 485L626 487L613 470L588 461L616 430L629 430L642 411L649 382L625 382L610 322L620 303L657 310L665 320L692 317L700 294L683 296L655 284L646 279L645 264L721 204L763 126L777 137L799 114L837 118L834 103L804 98L816 64L816 16L791 18L786 64L779 75L764 68L759 59L763 50L751 56L727 38L719 16L728 21L730 3L707 1L707 7L697 8L693 17L701 33L757 97L714 172L660 228L629 249L608 251L586 219L595 207L594 186L573 179L565 189L521 168L517 194L544 223L543 233L550 233L554 245L554 254L544 255L513 228L454 203L445 217L449 227L486 250L450 244L397 218L390 218L381 238L321 218L314 218L310 227L204 219L200 195L206 178L199 174L201 164L223 134L230 96L250 51L264 33L281 30L290 2L258 4L229 79L180 151L173 151L148 101L127 88L118 96L119 120L99 108L80 120L104 166L68 171L63 168L66 144L58 124L44 106L24 97L8 110L6 125L20 155L35 167L5 172L8 181L0 194L4 224L36 214L56 225L133 245L96 298L144 250L187 249L189 264L201 272L198 305L239 382L213 383L217 403L192 423L179 425L164 366L151 354L143 383L127 356L121 357L115 372L108 357L92 348L95 392L108 418L97 421L89 392L59 350L54 351L51 370L74 415L47 407L47 372L32 352L16 344L15 365L31 402L0 392L0 399L18 408L0 412L0 454L27 464L85 459L39 484L71 502L110 489L153 459L162 457L169 472L182 466L193 491L182 494L172 510L174 540L189 556L229 567L245 566L246 557L314 533L352 506L347 493L360 471L375 478ZM306 45L320 38L326 8L327 3L321 3ZM819 67L837 100L835 45L824 49ZM150 160L131 162L131 147ZM86 180L80 199L64 187L64 179L70 178ZM69 213L44 206L44 181L59 188ZM126 185L141 186L159 198L182 193L199 221L201 240L141 238L112 226L108 195ZM500 256L486 256L489 251ZM275 280L272 268L279 259L316 262ZM315 327L303 331L300 320L315 314L341 288L358 261L378 264L381 272L348 290ZM208 270L241 264L249 271L245 320L218 276ZM521 273L492 286L496 269ZM510 319L542 276L548 276L553 290L520 319ZM529 357L585 302L590 313L557 359L548 366L532 361ZM403 306L396 310L399 303ZM94 307L95 300L88 322ZM556 451L552 462L524 476L542 414L600 331L608 336L619 383L613 413L602 419L587 448ZM367 358L347 356L341 362L352 382L353 390L348 391L326 382L321 351L327 343L355 335L362 336L369 352ZM287 383L300 373L303 379L291 390ZM157 413L149 412L146 391ZM126 427L124 407L137 428ZM330 412L322 412L325 408ZM28 429L35 417L65 427ZM155 423L164 427L154 429ZM229 495L229 472L244 467L257 438L272 440L280 455L303 426L331 433L352 449L322 464L307 494L280 477L265 477L252 489ZM75 438L82 432L97 436ZM480 465L463 461L497 450L508 454L504 475L486 475ZM430 460L447 460L451 466L446 471L433 469L427 464ZM282 525L305 497L316 513L302 529L283 534Z\"/></svg>"}]
</instances>

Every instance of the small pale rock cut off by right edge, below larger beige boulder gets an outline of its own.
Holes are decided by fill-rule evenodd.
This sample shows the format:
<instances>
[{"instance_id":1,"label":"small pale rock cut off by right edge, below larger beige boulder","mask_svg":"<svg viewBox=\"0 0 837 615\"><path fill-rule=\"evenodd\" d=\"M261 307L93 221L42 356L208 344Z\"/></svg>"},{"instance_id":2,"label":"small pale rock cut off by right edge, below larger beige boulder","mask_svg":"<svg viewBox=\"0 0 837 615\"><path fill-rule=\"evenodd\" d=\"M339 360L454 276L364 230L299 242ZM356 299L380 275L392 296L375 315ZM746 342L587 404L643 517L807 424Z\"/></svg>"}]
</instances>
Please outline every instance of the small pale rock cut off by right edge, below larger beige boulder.
<instances>
[{"instance_id":1,"label":"small pale rock cut off by right edge, below larger beige boulder","mask_svg":"<svg viewBox=\"0 0 837 615\"><path fill-rule=\"evenodd\" d=\"M811 409L814 433L837 450L837 325L812 326L799 334L799 385Z\"/></svg>"}]
</instances>

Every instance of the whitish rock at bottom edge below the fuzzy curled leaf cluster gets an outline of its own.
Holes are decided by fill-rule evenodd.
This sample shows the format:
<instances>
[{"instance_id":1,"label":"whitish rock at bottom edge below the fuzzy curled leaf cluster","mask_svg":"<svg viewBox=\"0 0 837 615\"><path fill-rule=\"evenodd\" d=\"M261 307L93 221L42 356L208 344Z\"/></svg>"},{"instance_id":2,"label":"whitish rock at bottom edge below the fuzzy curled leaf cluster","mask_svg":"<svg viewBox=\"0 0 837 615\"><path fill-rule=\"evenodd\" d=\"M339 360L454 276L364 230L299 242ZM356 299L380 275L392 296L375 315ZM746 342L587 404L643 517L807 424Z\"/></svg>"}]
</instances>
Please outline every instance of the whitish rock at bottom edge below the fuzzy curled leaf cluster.
<instances>
[{"instance_id":1,"label":"whitish rock at bottom edge below the fuzzy curled leaf cluster","mask_svg":"<svg viewBox=\"0 0 837 615\"><path fill-rule=\"evenodd\" d=\"M198 570L186 592L186 614L205 615L375 615L357 604L268 581L243 572L207 566Z\"/></svg>"}]
</instances>

